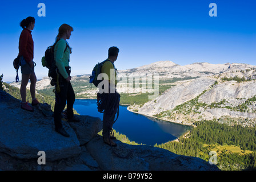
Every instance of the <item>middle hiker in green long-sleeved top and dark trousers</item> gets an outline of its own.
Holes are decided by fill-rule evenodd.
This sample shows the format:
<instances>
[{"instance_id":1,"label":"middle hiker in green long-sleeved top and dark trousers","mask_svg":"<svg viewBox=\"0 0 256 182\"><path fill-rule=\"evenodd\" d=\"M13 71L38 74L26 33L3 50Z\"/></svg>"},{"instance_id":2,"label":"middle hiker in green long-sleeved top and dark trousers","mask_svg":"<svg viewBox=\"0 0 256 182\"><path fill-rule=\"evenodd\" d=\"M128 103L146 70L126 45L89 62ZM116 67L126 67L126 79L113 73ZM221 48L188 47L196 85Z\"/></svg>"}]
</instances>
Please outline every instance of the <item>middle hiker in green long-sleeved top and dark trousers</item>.
<instances>
[{"instance_id":1,"label":"middle hiker in green long-sleeved top and dark trousers","mask_svg":"<svg viewBox=\"0 0 256 182\"><path fill-rule=\"evenodd\" d=\"M59 27L59 34L54 43L54 60L56 63L57 83L55 84L55 107L54 107L54 124L55 131L59 134L69 137L69 134L63 129L61 121L61 113L65 109L67 103L67 119L69 122L75 122L73 105L75 102L75 93L70 83L71 67L69 67L69 59L71 48L66 40L70 39L73 27L68 24L62 24ZM58 89L59 88L59 89Z\"/></svg>"}]
</instances>

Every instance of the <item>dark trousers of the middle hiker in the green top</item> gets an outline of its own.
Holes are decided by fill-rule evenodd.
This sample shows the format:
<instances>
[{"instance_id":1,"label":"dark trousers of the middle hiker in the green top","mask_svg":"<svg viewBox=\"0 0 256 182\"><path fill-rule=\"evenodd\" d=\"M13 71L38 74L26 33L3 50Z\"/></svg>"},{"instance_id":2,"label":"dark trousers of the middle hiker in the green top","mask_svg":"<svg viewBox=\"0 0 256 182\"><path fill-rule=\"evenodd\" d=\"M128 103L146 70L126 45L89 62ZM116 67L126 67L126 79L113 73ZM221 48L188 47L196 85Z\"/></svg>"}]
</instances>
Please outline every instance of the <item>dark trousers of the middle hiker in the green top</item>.
<instances>
[{"instance_id":1,"label":"dark trousers of the middle hiker in the green top","mask_svg":"<svg viewBox=\"0 0 256 182\"><path fill-rule=\"evenodd\" d=\"M62 76L61 76L62 77ZM61 92L55 92L55 107L54 107L54 124L55 129L62 128L61 113L65 109L67 103L67 119L74 117L73 105L75 102L75 93L73 87L62 77L62 84L60 86Z\"/></svg>"}]
</instances>

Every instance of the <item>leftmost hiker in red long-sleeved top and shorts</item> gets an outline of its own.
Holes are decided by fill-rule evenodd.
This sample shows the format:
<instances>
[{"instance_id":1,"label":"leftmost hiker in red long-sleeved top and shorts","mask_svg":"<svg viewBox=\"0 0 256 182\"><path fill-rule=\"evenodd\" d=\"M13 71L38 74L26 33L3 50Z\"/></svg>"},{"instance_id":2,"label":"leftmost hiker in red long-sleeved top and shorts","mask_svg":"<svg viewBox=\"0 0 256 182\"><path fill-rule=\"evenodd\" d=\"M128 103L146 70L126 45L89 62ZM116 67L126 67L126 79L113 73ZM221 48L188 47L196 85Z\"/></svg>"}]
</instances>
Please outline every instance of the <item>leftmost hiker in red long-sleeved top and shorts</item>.
<instances>
[{"instance_id":1,"label":"leftmost hiker in red long-sleeved top and shorts","mask_svg":"<svg viewBox=\"0 0 256 182\"><path fill-rule=\"evenodd\" d=\"M34 71L34 41L31 35L32 30L35 27L35 18L27 17L23 19L20 23L20 26L23 28L21 36L19 37L19 59L21 59L21 108L33 111L33 107L29 106L26 102L26 87L27 83L30 80L30 93L32 97L32 106L39 104L37 98L35 98L35 84L37 82L37 77L35 76Z\"/></svg>"}]
</instances>

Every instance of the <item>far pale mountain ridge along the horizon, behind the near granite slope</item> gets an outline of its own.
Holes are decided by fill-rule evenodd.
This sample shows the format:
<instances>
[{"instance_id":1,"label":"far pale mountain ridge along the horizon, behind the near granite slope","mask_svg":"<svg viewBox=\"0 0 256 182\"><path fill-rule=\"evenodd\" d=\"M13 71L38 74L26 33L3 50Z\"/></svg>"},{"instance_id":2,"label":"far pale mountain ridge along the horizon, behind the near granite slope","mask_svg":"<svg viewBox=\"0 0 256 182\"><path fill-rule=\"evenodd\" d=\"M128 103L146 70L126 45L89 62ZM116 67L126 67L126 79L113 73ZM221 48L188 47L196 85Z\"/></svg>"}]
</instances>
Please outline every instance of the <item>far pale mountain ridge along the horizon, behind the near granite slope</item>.
<instances>
[{"instance_id":1,"label":"far pale mountain ridge along the horizon, behind the near granite slope","mask_svg":"<svg viewBox=\"0 0 256 182\"><path fill-rule=\"evenodd\" d=\"M157 65L160 65L160 68L158 69ZM166 68L166 65L167 66ZM198 65L201 65L201 67L198 67ZM202 65L207 65L208 67L202 67ZM210 66L210 68L209 68ZM230 68L229 68L230 67ZM149 69L152 68L152 69ZM214 69L213 69L214 68ZM148 65L142 65L138 68L132 68L132 69L126 69L126 70L118 70L118 77L127 77L127 75L131 77L138 77L140 75L145 75L147 73L158 73L160 74L160 80L165 80L169 78L184 78L184 77L202 77L202 76L214 76L219 73L223 73L226 71L227 76L230 75L230 72L246 68L255 68L256 65L249 65L245 63L225 63L225 64L210 64L207 62L203 63L191 63L188 65L179 65L174 63L173 61L157 61L155 63L151 63ZM162 73L162 74L161 74ZM78 78L83 78L83 82L87 83L89 81L90 75L77 75L72 76L72 81L78 80ZM21 81L18 83L11 82L10 85L20 87ZM85 84L86 85L86 84ZM89 84L87 84L89 85ZM41 80L37 81L37 90L41 89L49 89L53 88L50 86L50 78L49 77L43 77ZM119 86L119 85L117 85ZM30 82L27 84L27 88L30 87ZM122 93L122 92L121 92Z\"/></svg>"}]
</instances>

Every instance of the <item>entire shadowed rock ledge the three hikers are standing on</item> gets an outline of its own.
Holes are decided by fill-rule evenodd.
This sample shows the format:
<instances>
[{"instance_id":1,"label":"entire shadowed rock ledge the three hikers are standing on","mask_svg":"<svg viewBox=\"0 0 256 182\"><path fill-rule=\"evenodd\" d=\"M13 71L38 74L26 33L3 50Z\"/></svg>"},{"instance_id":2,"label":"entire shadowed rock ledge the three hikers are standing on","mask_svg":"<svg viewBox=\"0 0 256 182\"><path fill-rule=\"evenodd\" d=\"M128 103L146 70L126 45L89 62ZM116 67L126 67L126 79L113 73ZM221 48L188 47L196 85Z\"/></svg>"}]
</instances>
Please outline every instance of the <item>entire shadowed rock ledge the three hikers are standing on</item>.
<instances>
[{"instance_id":1,"label":"entire shadowed rock ledge the three hikers are standing on","mask_svg":"<svg viewBox=\"0 0 256 182\"><path fill-rule=\"evenodd\" d=\"M0 171L218 171L205 160L174 154L152 146L133 146L115 140L103 143L99 118L75 115L80 122L63 126L70 138L54 131L52 117L38 107L30 113L21 101L0 90ZM46 164L38 164L39 151ZM40 160L41 161L41 160Z\"/></svg>"}]
</instances>

